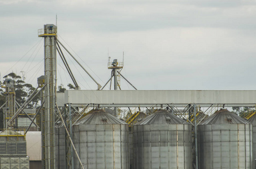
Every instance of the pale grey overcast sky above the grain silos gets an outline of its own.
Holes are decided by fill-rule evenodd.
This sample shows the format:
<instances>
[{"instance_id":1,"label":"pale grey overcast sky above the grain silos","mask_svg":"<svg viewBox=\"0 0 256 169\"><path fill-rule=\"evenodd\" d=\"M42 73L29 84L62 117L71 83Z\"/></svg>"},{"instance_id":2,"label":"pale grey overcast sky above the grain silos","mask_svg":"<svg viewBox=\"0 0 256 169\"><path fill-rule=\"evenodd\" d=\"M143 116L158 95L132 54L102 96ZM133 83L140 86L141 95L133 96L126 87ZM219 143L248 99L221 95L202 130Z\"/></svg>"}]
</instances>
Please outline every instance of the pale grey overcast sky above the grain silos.
<instances>
[{"instance_id":1,"label":"pale grey overcast sky above the grain silos","mask_svg":"<svg viewBox=\"0 0 256 169\"><path fill-rule=\"evenodd\" d=\"M56 14L59 41L102 86L108 57L122 61L124 52L121 73L138 90L256 90L251 0L0 0L1 77L23 71L37 85L44 74L37 30L55 24ZM69 58L81 89L97 89ZM66 87L72 81L59 56L57 66L58 85ZM121 88L133 89L124 79Z\"/></svg>"}]
</instances>

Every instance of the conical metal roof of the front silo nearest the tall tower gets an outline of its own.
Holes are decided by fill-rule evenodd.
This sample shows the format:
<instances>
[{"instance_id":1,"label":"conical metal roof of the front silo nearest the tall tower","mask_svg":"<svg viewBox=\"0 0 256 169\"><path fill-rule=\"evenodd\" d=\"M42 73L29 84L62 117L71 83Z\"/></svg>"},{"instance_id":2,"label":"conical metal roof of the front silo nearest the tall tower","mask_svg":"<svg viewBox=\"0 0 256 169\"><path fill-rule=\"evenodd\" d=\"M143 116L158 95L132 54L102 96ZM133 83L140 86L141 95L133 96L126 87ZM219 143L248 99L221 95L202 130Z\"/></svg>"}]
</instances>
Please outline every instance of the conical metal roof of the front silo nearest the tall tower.
<instances>
[{"instance_id":1,"label":"conical metal roof of the front silo nearest the tall tower","mask_svg":"<svg viewBox=\"0 0 256 169\"><path fill-rule=\"evenodd\" d=\"M86 115L76 122L79 124L127 124L124 121L116 118L114 115L106 113L102 109L96 109L92 113Z\"/></svg>"}]
</instances>

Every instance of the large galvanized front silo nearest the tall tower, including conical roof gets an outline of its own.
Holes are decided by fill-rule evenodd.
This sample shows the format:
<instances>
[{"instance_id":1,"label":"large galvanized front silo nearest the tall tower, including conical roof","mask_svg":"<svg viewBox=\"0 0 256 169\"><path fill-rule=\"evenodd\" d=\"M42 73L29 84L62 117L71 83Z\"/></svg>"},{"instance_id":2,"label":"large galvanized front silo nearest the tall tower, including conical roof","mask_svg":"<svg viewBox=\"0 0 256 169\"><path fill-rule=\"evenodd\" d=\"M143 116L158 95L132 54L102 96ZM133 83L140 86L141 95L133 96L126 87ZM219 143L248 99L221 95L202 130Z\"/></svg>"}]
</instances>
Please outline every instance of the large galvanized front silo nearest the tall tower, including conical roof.
<instances>
[{"instance_id":1,"label":"large galvanized front silo nearest the tall tower, including conical roof","mask_svg":"<svg viewBox=\"0 0 256 169\"><path fill-rule=\"evenodd\" d=\"M128 124L104 110L94 110L73 125L74 144L87 169L129 169L128 136ZM81 168L76 157L75 168Z\"/></svg>"}]
</instances>

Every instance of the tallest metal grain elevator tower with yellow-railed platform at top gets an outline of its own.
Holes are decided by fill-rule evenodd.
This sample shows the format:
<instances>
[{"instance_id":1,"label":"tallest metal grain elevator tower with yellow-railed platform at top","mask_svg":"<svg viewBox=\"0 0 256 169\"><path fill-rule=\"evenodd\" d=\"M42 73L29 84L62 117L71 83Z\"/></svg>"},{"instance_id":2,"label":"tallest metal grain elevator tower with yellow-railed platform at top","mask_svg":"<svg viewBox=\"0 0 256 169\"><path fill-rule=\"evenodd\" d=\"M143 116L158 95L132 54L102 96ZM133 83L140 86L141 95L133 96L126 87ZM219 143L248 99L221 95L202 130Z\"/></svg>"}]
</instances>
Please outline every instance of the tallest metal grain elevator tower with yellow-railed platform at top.
<instances>
[{"instance_id":1,"label":"tallest metal grain elevator tower with yellow-railed platform at top","mask_svg":"<svg viewBox=\"0 0 256 169\"><path fill-rule=\"evenodd\" d=\"M45 111L41 118L42 131L42 168L55 168L54 121L55 121L55 85L56 85L56 47L57 26L44 25L38 30L38 37L44 37L45 63Z\"/></svg>"}]
</instances>

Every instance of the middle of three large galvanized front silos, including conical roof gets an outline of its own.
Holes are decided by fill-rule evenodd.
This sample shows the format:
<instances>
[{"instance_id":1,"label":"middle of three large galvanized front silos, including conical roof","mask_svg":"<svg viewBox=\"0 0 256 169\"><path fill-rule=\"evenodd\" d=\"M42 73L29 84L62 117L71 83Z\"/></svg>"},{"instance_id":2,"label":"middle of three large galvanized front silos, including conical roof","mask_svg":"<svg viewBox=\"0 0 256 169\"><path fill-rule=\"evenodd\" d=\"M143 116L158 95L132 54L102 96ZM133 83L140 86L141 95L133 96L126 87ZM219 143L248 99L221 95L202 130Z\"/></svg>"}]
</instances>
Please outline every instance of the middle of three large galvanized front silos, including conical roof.
<instances>
[{"instance_id":1,"label":"middle of three large galvanized front silos, including conical roof","mask_svg":"<svg viewBox=\"0 0 256 169\"><path fill-rule=\"evenodd\" d=\"M192 125L164 109L134 124L134 168L192 168Z\"/></svg>"}]
</instances>

